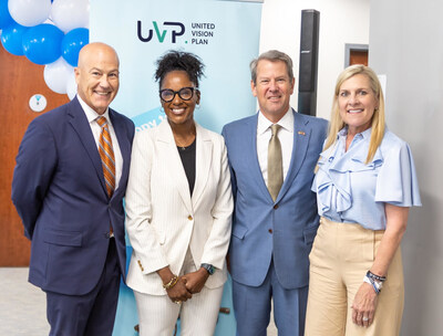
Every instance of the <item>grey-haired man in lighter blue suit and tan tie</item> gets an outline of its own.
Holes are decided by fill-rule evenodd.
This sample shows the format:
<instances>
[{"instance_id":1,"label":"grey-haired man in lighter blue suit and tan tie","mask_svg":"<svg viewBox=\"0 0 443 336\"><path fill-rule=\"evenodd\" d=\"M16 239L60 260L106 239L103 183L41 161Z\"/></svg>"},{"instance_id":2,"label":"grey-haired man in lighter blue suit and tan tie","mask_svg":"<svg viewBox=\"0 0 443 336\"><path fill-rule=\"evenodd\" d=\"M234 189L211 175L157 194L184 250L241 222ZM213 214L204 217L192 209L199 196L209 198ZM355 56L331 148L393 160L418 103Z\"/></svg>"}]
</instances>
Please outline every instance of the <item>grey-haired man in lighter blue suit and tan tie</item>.
<instances>
[{"instance_id":1,"label":"grey-haired man in lighter blue suit and tan tie","mask_svg":"<svg viewBox=\"0 0 443 336\"><path fill-rule=\"evenodd\" d=\"M223 129L235 198L229 261L237 335L266 335L272 298L278 334L302 336L308 255L319 224L311 183L327 122L290 108L295 78L287 54L268 51L250 70L259 112ZM279 159L270 149L274 134Z\"/></svg>"}]
</instances>

